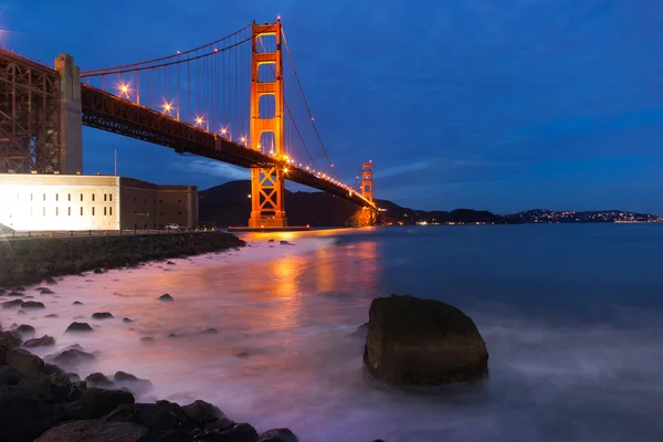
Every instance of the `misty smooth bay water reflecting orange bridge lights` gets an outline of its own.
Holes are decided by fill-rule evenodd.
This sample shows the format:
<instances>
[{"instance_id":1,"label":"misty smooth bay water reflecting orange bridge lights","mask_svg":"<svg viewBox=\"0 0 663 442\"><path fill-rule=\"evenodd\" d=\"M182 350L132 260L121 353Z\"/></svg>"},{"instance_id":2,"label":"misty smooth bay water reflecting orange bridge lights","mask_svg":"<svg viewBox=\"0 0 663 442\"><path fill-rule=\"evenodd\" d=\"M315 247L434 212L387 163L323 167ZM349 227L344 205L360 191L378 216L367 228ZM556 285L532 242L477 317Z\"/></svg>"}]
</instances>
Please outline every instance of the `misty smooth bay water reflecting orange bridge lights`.
<instances>
[{"instance_id":1,"label":"misty smooth bay water reflecting orange bridge lights","mask_svg":"<svg viewBox=\"0 0 663 442\"><path fill-rule=\"evenodd\" d=\"M291 428L302 441L663 440L663 225L243 238L251 246L176 265L64 277L55 295L30 293L45 311L1 309L0 322L54 336L57 345L40 356L76 343L98 351L82 376L149 379L154 390L139 400L203 399L259 431ZM157 301L164 293L175 302ZM368 379L364 343L349 335L371 298L390 293L469 314L487 343L490 379L435 391ZM94 312L115 318L94 320ZM78 316L95 330L65 335ZM201 333L210 327L218 333Z\"/></svg>"}]
</instances>

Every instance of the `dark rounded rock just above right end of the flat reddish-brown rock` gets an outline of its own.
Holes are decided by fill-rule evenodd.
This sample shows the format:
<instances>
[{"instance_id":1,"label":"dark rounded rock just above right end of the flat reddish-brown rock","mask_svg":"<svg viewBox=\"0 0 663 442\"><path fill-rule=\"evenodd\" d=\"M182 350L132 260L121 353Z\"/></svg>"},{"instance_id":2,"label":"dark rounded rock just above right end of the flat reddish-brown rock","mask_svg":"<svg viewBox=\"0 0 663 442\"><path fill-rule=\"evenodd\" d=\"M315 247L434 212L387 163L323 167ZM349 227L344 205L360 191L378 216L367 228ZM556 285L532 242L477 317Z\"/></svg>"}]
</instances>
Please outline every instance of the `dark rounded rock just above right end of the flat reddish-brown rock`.
<instances>
[{"instance_id":1,"label":"dark rounded rock just above right end of the flat reddish-brown rock","mask_svg":"<svg viewBox=\"0 0 663 442\"><path fill-rule=\"evenodd\" d=\"M158 432L191 430L194 427L180 406L166 400L124 404L109 413L105 420L139 423Z\"/></svg>"}]
</instances>

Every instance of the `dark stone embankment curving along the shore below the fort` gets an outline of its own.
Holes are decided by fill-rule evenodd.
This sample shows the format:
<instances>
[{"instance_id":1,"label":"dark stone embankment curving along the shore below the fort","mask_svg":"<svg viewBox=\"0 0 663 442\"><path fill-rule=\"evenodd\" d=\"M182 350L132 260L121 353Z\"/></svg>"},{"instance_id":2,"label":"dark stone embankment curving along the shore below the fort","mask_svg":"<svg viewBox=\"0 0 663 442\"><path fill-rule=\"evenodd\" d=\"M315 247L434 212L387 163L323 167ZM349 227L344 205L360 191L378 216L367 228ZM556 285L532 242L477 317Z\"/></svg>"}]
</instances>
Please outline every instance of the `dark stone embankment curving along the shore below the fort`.
<instances>
[{"instance_id":1,"label":"dark stone embankment curving along the shore below the fort","mask_svg":"<svg viewBox=\"0 0 663 442\"><path fill-rule=\"evenodd\" d=\"M219 252L244 244L239 238L222 232L1 241L0 286L39 283L48 277L99 267Z\"/></svg>"}]
</instances>

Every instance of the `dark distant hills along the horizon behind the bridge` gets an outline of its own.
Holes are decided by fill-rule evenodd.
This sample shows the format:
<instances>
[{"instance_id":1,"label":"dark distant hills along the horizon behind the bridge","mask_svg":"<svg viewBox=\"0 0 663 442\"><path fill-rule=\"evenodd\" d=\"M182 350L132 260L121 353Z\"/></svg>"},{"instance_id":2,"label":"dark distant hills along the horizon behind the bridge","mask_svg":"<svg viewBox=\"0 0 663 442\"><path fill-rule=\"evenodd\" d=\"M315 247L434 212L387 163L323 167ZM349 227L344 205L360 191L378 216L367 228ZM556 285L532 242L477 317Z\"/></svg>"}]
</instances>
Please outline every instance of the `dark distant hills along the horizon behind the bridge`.
<instances>
[{"instance_id":1,"label":"dark distant hills along the horizon behind the bridge","mask_svg":"<svg viewBox=\"0 0 663 442\"><path fill-rule=\"evenodd\" d=\"M199 192L200 222L208 225L246 225L251 214L251 181L230 181ZM486 210L456 209L424 211L400 207L388 200L376 200L380 212L380 224L522 224L558 222L663 222L648 213L620 210L591 212L546 209L527 210L514 214L495 214ZM285 194L285 209L291 225L343 227L351 225L360 209L351 202L324 192L291 192Z\"/></svg>"}]
</instances>

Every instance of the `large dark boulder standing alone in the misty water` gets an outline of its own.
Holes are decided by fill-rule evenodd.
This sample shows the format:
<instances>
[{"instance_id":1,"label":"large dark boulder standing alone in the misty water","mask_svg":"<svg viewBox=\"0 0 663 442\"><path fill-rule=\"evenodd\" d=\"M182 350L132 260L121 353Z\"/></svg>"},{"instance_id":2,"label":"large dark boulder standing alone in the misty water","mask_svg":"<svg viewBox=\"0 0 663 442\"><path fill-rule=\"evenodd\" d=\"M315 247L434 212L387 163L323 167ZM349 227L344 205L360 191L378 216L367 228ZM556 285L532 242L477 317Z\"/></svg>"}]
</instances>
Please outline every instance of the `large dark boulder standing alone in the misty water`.
<instances>
[{"instance_id":1,"label":"large dark boulder standing alone in the misty water","mask_svg":"<svg viewBox=\"0 0 663 442\"><path fill-rule=\"evenodd\" d=\"M370 304L364 361L393 383L471 382L488 373L488 352L472 318L440 301L409 295Z\"/></svg>"}]
</instances>

